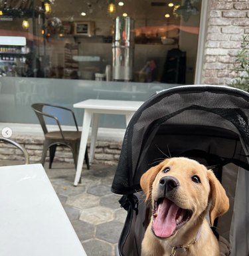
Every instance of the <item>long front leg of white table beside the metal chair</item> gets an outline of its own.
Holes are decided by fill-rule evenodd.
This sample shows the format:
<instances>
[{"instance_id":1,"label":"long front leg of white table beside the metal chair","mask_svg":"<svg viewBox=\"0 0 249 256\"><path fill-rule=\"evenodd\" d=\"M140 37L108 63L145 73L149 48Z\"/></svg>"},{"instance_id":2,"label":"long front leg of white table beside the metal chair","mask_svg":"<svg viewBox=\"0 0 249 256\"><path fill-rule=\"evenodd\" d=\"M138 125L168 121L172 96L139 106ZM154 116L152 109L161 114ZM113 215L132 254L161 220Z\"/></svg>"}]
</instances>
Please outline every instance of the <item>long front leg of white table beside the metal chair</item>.
<instances>
[{"instance_id":1,"label":"long front leg of white table beside the metal chair","mask_svg":"<svg viewBox=\"0 0 249 256\"><path fill-rule=\"evenodd\" d=\"M92 112L88 112L88 110L85 109L83 124L82 124L82 134L80 138L80 150L78 153L78 163L77 163L76 175L74 178L74 186L77 186L78 182L80 181L82 166L84 162L84 156L86 153L86 145L88 143L88 134L90 130L91 120L92 120Z\"/></svg>"}]
</instances>

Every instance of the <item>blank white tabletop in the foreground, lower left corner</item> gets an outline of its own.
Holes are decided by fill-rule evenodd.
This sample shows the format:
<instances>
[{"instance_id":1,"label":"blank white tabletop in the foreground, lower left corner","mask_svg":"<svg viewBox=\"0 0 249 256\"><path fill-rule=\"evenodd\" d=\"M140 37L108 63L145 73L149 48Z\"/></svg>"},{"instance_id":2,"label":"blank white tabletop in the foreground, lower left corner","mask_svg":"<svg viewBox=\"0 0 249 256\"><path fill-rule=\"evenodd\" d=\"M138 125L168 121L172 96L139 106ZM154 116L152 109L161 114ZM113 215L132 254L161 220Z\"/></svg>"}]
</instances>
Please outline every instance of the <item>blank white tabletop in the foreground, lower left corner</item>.
<instances>
[{"instance_id":1,"label":"blank white tabletop in the foreground, lower left corner","mask_svg":"<svg viewBox=\"0 0 249 256\"><path fill-rule=\"evenodd\" d=\"M0 255L86 256L41 164L0 167Z\"/></svg>"}]
</instances>

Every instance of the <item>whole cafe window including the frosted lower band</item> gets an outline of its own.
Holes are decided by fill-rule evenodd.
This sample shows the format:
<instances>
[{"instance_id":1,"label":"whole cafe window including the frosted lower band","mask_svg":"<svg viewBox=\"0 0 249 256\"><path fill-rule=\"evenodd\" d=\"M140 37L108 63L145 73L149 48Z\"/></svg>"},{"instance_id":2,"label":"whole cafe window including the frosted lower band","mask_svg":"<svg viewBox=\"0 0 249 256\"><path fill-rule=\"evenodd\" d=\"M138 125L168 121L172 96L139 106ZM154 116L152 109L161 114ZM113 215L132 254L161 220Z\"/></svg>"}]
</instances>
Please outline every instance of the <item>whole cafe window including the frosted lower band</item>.
<instances>
[{"instance_id":1,"label":"whole cafe window including the frosted lower band","mask_svg":"<svg viewBox=\"0 0 249 256\"><path fill-rule=\"evenodd\" d=\"M0 1L0 35L11 37L0 41L0 122L37 124L35 102L145 101L194 84L201 2ZM125 128L118 116L100 122Z\"/></svg>"}]
</instances>

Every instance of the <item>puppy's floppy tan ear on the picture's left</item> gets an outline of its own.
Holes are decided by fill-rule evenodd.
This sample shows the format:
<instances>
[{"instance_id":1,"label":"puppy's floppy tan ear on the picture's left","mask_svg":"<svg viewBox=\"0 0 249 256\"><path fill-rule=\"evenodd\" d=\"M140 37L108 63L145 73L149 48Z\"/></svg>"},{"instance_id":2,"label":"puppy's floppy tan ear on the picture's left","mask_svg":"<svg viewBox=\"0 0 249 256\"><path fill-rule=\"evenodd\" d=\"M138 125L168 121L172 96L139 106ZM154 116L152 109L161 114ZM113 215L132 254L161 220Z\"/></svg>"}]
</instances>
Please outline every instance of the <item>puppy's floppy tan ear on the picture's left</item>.
<instances>
[{"instance_id":1,"label":"puppy's floppy tan ear on the picture's left","mask_svg":"<svg viewBox=\"0 0 249 256\"><path fill-rule=\"evenodd\" d=\"M145 172L141 176L140 185L141 185L143 192L146 195L145 201L147 201L149 199L153 181L155 180L155 177L157 176L157 174L160 172L164 163L165 162L161 162L161 164L151 167L149 170L147 170L147 172Z\"/></svg>"}]
</instances>

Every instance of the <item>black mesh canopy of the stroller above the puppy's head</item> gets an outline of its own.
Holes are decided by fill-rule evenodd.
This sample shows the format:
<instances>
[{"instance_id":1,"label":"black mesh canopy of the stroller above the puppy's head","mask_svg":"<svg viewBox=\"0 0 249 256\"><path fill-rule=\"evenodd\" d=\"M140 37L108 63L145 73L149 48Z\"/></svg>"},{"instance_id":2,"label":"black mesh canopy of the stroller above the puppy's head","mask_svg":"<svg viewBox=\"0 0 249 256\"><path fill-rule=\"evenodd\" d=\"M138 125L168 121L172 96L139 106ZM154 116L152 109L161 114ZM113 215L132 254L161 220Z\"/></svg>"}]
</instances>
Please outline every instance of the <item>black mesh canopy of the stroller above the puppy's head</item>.
<instances>
[{"instance_id":1,"label":"black mesh canopy of the stroller above the puppy's head","mask_svg":"<svg viewBox=\"0 0 249 256\"><path fill-rule=\"evenodd\" d=\"M228 86L178 86L151 96L127 126L112 192L141 190L141 175L173 156L249 170L248 102L247 92Z\"/></svg>"}]
</instances>

